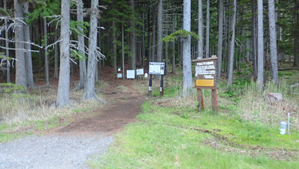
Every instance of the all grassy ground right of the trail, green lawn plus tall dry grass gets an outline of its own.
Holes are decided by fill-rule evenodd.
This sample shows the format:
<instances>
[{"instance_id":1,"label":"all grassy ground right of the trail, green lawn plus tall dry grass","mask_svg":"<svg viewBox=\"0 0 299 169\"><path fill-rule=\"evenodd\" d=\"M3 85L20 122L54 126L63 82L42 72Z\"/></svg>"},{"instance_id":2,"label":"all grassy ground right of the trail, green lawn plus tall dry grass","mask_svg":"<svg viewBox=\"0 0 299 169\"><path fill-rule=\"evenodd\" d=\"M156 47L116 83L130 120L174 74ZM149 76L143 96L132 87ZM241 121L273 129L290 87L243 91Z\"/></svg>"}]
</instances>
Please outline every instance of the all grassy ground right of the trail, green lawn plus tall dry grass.
<instances>
[{"instance_id":1,"label":"all grassy ground right of the trail, green lawn plus tall dry grass","mask_svg":"<svg viewBox=\"0 0 299 169\"><path fill-rule=\"evenodd\" d=\"M144 103L140 122L118 133L108 153L87 162L91 168L298 168L299 92L290 87L299 82L298 71L280 75L279 85L267 82L263 93L256 90L250 70L235 72L232 86L218 84L219 113L211 110L210 90L203 90L206 110L201 113L195 90L190 98L180 98L177 72L164 76L165 95ZM148 82L137 83L147 93ZM153 81L155 96L159 85ZM268 92L283 93L284 101L270 102ZM280 135L287 112L291 135Z\"/></svg>"}]
</instances>

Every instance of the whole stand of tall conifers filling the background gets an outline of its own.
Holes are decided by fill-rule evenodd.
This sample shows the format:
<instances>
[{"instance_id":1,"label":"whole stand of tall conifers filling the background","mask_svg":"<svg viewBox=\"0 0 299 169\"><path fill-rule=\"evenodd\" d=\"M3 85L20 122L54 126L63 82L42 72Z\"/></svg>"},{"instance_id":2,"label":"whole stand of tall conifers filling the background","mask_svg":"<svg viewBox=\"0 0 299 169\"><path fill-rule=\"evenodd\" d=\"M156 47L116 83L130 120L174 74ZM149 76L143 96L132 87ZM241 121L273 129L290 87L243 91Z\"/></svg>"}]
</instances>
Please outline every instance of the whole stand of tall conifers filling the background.
<instances>
[{"instance_id":1,"label":"whole stand of tall conifers filling the background","mask_svg":"<svg viewBox=\"0 0 299 169\"><path fill-rule=\"evenodd\" d=\"M146 67L145 61L165 61L167 73L175 74L175 66L181 65L184 78L189 76L184 88L190 88L191 67L185 66L191 59L216 55L218 79L225 77L231 85L233 70L240 72L242 64L252 62L252 77L261 90L266 80L278 83L279 63L291 62L298 68L297 0L184 3L4 0L0 4L2 82L32 88L33 70L45 72L45 85L49 78L61 76L60 106L69 105L66 79L77 69L79 88L86 88L83 99L89 99L95 98L94 80L106 66L116 74L118 67L135 70ZM198 36L176 34L181 30Z\"/></svg>"}]
</instances>

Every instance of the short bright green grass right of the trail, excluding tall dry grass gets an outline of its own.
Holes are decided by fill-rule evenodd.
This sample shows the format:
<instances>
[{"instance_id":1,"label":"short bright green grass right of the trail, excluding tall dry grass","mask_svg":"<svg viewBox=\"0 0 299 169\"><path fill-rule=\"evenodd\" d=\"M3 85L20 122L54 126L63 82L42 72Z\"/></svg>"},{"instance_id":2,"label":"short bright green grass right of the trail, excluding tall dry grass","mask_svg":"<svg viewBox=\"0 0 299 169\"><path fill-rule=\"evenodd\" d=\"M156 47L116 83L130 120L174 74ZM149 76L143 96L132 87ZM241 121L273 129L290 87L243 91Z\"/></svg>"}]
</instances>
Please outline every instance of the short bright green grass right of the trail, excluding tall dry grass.
<instances>
[{"instance_id":1,"label":"short bright green grass right of the trail, excluding tall dry grass","mask_svg":"<svg viewBox=\"0 0 299 169\"><path fill-rule=\"evenodd\" d=\"M142 111L136 117L140 122L118 133L109 152L87 162L91 168L298 168L298 161L266 155L281 148L298 151L298 132L280 135L277 129L235 116L158 107L151 101ZM212 141L221 148L213 148ZM265 151L257 153L255 148Z\"/></svg>"}]
</instances>

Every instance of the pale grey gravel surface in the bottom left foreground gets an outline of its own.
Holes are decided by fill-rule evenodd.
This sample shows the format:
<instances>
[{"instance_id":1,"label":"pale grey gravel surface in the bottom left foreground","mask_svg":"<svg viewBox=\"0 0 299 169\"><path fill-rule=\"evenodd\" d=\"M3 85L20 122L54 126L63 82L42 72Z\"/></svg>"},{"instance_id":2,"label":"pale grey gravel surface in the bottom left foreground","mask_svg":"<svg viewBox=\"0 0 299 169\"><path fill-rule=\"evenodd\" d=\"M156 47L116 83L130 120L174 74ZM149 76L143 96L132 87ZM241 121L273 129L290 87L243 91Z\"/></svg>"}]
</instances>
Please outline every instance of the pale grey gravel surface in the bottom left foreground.
<instances>
[{"instance_id":1,"label":"pale grey gravel surface in the bottom left foreground","mask_svg":"<svg viewBox=\"0 0 299 169\"><path fill-rule=\"evenodd\" d=\"M0 168L89 168L90 156L103 154L112 137L28 136L0 143Z\"/></svg>"}]
</instances>

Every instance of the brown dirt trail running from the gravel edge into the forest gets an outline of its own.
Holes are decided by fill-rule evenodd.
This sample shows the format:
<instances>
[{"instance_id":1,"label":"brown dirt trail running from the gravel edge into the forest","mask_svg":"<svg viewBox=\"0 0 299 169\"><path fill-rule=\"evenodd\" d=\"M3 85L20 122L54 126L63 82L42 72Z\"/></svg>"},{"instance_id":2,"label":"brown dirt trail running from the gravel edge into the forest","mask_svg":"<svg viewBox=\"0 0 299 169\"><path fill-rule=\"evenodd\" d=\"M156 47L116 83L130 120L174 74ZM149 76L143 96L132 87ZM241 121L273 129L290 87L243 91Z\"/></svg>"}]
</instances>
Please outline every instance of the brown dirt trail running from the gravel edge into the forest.
<instances>
[{"instance_id":1,"label":"brown dirt trail running from the gravel edge into the forest","mask_svg":"<svg viewBox=\"0 0 299 169\"><path fill-rule=\"evenodd\" d=\"M44 135L112 135L122 130L126 124L137 121L135 117L141 111L141 104L149 97L133 87L134 80L117 79L111 75L111 69L102 74L102 80L109 87L97 92L105 95L107 105L94 111L75 114L71 117L73 122L67 126L40 132Z\"/></svg>"}]
</instances>

